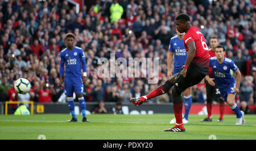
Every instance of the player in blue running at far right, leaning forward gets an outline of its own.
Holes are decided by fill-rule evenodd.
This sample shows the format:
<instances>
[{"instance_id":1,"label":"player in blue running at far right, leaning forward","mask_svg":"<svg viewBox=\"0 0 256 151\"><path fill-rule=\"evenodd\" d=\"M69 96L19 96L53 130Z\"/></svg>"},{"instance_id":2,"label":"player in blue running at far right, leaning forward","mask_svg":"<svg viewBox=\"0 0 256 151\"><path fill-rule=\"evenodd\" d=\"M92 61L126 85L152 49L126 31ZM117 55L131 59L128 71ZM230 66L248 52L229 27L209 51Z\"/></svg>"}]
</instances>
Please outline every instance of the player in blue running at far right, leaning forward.
<instances>
[{"instance_id":1,"label":"player in blue running at far right, leaning forward","mask_svg":"<svg viewBox=\"0 0 256 151\"><path fill-rule=\"evenodd\" d=\"M234 102L236 93L239 92L240 81L241 81L241 72L234 64L234 62L228 58L225 58L225 48L222 45L216 47L216 57L210 58L210 67L213 70L213 79L207 75L205 78L208 83L212 86L217 85L220 90L221 97L224 98L229 107L233 110L234 114L237 115L237 125L245 124L245 117L243 111L240 111L237 103ZM237 75L237 80L235 81L234 77L230 74L232 70Z\"/></svg>"}]
</instances>

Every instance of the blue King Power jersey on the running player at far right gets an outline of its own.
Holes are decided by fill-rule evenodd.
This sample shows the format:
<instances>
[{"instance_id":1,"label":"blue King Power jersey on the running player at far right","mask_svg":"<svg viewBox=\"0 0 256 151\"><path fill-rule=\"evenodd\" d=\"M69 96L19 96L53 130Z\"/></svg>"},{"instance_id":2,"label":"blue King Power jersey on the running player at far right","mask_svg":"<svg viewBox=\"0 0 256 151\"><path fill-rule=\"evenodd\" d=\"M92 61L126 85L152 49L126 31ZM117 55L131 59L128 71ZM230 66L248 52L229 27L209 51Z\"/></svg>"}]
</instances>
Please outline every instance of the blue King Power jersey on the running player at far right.
<instances>
[{"instance_id":1,"label":"blue King Power jersey on the running player at far right","mask_svg":"<svg viewBox=\"0 0 256 151\"><path fill-rule=\"evenodd\" d=\"M226 89L229 85L236 83L230 70L237 71L238 68L232 60L225 58L222 63L218 63L217 57L211 57L210 67L212 67L213 76L219 89Z\"/></svg>"}]
</instances>

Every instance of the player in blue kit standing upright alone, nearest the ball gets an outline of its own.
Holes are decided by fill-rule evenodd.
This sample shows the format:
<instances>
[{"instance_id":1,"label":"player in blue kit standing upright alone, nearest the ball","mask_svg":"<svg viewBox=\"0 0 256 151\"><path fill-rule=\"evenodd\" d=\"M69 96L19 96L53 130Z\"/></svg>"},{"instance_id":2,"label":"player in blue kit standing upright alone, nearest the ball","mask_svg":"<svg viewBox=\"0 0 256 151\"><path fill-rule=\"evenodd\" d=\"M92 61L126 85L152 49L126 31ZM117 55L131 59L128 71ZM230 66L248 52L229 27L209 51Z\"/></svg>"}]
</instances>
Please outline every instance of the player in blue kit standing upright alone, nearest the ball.
<instances>
[{"instance_id":1,"label":"player in blue kit standing upright alone, nearest the ball","mask_svg":"<svg viewBox=\"0 0 256 151\"><path fill-rule=\"evenodd\" d=\"M65 36L65 44L67 48L60 53L60 84L64 85L65 94L67 95L68 107L71 111L72 119L67 122L77 122L75 114L75 103L73 100L73 92L79 100L80 109L82 112L82 122L89 122L85 115L85 100L84 96L84 83L86 80L86 61L84 51L75 46L75 35L67 33ZM64 77L64 64L65 64L65 77ZM81 67L82 66L82 67ZM82 71L81 72L81 68Z\"/></svg>"}]
</instances>

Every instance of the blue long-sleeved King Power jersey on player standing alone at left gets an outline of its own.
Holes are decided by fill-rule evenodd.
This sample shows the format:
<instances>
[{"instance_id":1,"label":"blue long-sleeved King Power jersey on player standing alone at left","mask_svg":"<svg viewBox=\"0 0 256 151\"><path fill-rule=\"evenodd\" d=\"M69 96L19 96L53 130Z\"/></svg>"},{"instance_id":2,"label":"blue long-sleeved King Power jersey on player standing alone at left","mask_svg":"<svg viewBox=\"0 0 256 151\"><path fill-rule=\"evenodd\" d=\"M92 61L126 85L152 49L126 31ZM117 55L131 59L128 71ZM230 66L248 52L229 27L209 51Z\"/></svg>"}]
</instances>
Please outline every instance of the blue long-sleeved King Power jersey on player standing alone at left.
<instances>
[{"instance_id":1,"label":"blue long-sleeved King Power jersey on player standing alone at left","mask_svg":"<svg viewBox=\"0 0 256 151\"><path fill-rule=\"evenodd\" d=\"M64 66L65 63L65 77L71 76L82 76L81 74L81 62L85 62L84 51L75 46L73 50L68 50L65 48L60 53L60 66ZM84 66L84 65L83 65ZM86 63L85 69L83 67L84 72L86 71ZM63 76L63 72L60 71L60 75Z\"/></svg>"}]
</instances>

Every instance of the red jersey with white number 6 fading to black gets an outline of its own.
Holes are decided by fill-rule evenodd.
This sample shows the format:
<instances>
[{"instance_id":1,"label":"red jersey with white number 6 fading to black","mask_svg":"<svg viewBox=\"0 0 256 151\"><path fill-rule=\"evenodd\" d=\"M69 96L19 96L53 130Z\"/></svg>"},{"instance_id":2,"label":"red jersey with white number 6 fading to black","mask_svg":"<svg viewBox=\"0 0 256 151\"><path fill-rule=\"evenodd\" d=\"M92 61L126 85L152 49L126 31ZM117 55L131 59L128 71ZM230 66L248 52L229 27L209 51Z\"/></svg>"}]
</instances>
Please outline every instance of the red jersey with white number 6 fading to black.
<instances>
[{"instance_id":1,"label":"red jersey with white number 6 fading to black","mask_svg":"<svg viewBox=\"0 0 256 151\"><path fill-rule=\"evenodd\" d=\"M207 75L209 70L209 51L204 35L196 27L189 27L183 40L187 52L189 51L188 42L195 42L196 54L191 63L195 64L200 73Z\"/></svg>"}]
</instances>

